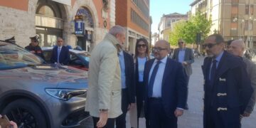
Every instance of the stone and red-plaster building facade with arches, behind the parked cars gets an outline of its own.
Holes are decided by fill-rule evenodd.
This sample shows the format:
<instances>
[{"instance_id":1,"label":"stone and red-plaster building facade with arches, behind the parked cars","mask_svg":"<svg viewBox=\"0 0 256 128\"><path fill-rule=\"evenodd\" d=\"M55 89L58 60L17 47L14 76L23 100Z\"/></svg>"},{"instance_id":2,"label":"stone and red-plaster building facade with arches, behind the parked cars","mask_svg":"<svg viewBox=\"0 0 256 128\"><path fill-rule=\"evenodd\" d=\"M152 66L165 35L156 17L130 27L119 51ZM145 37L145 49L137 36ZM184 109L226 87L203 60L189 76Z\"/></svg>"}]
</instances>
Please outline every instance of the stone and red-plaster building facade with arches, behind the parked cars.
<instances>
[{"instance_id":1,"label":"stone and red-plaster building facade with arches, behind the parked cars","mask_svg":"<svg viewBox=\"0 0 256 128\"><path fill-rule=\"evenodd\" d=\"M15 36L28 46L38 34L41 47L80 46L90 52L115 25L115 0L9 0L0 1L0 39Z\"/></svg>"}]
</instances>

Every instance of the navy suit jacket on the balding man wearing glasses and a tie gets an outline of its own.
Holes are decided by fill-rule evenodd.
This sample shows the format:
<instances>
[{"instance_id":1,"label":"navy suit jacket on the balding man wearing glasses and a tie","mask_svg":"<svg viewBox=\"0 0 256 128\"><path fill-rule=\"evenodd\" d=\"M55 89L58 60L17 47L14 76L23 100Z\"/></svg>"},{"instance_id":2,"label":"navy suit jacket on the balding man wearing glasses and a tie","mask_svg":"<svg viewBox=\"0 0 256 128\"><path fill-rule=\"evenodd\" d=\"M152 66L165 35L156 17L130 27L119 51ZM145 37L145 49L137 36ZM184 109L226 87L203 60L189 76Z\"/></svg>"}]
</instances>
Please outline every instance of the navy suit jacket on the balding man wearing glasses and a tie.
<instances>
[{"instance_id":1,"label":"navy suit jacket on the balding man wearing glasses and a tie","mask_svg":"<svg viewBox=\"0 0 256 128\"><path fill-rule=\"evenodd\" d=\"M148 60L144 68L144 84L146 85L145 94L145 116L148 118L148 82L149 72L155 59ZM166 67L161 87L161 98L164 106L164 112L167 116L175 118L174 111L177 107L184 108L186 106L186 97L188 95L188 87L186 75L181 63L178 63L171 58L167 58Z\"/></svg>"}]
</instances>

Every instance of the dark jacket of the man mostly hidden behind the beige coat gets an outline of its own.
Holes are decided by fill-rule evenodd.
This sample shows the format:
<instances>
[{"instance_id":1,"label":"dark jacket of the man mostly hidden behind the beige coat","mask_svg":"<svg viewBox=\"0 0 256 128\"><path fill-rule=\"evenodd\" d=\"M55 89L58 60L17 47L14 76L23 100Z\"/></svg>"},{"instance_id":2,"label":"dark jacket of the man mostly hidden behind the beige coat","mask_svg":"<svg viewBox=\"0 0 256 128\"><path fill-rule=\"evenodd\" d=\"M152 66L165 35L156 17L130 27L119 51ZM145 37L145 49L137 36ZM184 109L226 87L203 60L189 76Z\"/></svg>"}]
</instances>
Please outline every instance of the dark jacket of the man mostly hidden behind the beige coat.
<instances>
[{"instance_id":1,"label":"dark jacket of the man mostly hidden behind the beige coat","mask_svg":"<svg viewBox=\"0 0 256 128\"><path fill-rule=\"evenodd\" d=\"M128 90L128 102L135 102L135 85L134 85L134 60L132 55L124 52L124 66L125 66L125 85Z\"/></svg>"}]
</instances>

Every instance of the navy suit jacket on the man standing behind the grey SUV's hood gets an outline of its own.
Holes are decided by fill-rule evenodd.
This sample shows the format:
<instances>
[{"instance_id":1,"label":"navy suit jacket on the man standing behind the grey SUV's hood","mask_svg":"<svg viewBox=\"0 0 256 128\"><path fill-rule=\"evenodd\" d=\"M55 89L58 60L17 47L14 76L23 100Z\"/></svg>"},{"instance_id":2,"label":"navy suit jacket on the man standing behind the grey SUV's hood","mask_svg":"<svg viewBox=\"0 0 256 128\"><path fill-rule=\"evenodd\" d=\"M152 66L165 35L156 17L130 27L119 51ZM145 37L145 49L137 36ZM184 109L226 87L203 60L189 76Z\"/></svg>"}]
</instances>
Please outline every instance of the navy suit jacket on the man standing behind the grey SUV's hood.
<instances>
[{"instance_id":1,"label":"navy suit jacket on the man standing behind the grey SUV's hood","mask_svg":"<svg viewBox=\"0 0 256 128\"><path fill-rule=\"evenodd\" d=\"M50 61L52 63L57 63L58 62L57 59L58 59L58 46L55 46L53 48L53 53L50 58ZM69 61L70 61L70 54L69 54L68 47L62 46L60 50L59 63L62 63L63 65L68 65Z\"/></svg>"}]
</instances>

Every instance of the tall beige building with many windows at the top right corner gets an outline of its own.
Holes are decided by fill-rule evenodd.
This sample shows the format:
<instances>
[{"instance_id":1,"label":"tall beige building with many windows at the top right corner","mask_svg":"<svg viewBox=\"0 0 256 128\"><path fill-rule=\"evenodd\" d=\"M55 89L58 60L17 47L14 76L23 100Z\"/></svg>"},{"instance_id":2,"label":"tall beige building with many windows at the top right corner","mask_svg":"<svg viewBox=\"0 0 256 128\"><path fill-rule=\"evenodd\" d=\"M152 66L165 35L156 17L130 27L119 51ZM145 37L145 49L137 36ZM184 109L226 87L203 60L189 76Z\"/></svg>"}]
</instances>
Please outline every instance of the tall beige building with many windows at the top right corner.
<instances>
[{"instance_id":1,"label":"tall beige building with many windows at the top right corner","mask_svg":"<svg viewBox=\"0 0 256 128\"><path fill-rule=\"evenodd\" d=\"M241 39L247 48L256 50L255 0L195 0L190 6L192 15L201 11L211 18L210 34L220 33L225 41Z\"/></svg>"}]
</instances>

